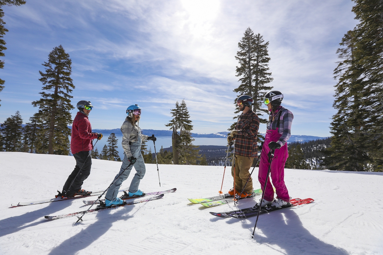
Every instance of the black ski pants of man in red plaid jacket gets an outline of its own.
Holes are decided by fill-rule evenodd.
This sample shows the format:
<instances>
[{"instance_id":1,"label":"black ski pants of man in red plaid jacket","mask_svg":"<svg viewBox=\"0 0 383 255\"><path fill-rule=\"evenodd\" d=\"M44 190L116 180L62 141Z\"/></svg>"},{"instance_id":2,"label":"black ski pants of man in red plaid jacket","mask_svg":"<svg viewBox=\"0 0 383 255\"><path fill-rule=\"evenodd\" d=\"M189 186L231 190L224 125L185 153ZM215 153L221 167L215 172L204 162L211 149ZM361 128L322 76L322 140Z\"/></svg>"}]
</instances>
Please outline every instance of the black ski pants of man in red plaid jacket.
<instances>
[{"instance_id":1,"label":"black ski pants of man in red plaid jacket","mask_svg":"<svg viewBox=\"0 0 383 255\"><path fill-rule=\"evenodd\" d=\"M65 181L64 187L62 188L63 195L67 192L66 196L73 196L74 193L81 189L82 183L90 175L92 157L89 153L89 151L80 151L73 154L76 160L76 166L67 181ZM71 183L72 186L70 186Z\"/></svg>"}]
</instances>

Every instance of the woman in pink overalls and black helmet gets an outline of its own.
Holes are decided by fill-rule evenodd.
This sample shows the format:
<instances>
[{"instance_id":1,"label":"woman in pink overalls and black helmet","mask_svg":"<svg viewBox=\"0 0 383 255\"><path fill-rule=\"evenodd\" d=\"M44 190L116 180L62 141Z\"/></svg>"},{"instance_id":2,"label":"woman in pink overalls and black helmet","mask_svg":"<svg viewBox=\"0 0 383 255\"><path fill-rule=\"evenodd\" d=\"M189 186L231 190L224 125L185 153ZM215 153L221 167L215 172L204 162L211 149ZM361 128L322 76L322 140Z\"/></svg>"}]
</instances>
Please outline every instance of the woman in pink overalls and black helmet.
<instances>
[{"instance_id":1,"label":"woman in pink overalls and black helmet","mask_svg":"<svg viewBox=\"0 0 383 255\"><path fill-rule=\"evenodd\" d=\"M258 180L263 189L270 165L268 153L270 150L275 150L270 168L270 177L275 187L277 198L274 199L273 186L270 183L270 178L268 178L266 189L264 190L264 200L260 201L261 206L271 204L272 206L280 207L290 201L284 181L284 167L288 157L287 140L291 136L291 124L294 116L291 111L281 106L282 99L283 94L277 90L270 91L264 96L264 103L270 111L270 116L260 156Z\"/></svg>"}]
</instances>

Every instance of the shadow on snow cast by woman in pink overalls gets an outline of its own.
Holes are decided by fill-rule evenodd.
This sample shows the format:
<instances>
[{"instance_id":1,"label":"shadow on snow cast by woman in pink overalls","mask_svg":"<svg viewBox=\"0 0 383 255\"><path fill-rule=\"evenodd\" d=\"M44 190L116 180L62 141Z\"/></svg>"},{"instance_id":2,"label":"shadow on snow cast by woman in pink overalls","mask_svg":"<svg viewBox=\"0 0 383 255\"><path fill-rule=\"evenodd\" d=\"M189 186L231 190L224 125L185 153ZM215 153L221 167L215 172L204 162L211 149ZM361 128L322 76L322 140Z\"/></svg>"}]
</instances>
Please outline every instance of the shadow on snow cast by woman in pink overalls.
<instances>
[{"instance_id":1,"label":"shadow on snow cast by woman in pink overalls","mask_svg":"<svg viewBox=\"0 0 383 255\"><path fill-rule=\"evenodd\" d=\"M285 219L283 218L285 216ZM278 245L286 255L296 254L321 254L321 255L349 255L343 248L327 244L312 235L303 224L294 210L275 212L269 215L271 218L262 221L259 218L257 229L254 233L254 241L269 245ZM262 216L260 216L262 217ZM243 227L254 229L255 218L251 222L243 221ZM262 234L257 234L261 230ZM249 233L249 234L252 234Z\"/></svg>"}]
</instances>

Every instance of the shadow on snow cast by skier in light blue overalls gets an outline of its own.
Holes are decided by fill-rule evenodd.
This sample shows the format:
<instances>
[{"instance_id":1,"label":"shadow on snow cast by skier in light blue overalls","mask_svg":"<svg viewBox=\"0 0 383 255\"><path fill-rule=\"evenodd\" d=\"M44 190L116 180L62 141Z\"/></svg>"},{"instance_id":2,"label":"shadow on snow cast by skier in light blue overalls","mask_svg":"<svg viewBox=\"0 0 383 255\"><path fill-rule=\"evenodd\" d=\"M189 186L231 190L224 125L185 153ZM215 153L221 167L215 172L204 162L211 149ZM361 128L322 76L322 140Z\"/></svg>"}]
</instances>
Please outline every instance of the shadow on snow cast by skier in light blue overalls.
<instances>
[{"instance_id":1,"label":"shadow on snow cast by skier in light blue overalls","mask_svg":"<svg viewBox=\"0 0 383 255\"><path fill-rule=\"evenodd\" d=\"M82 223L81 221L78 223L73 223L73 227L80 227L82 230L75 234L72 237L69 237L69 239L62 242L60 245L56 246L51 250L49 255L75 255L78 254L80 250L83 250L87 248L89 245L91 245L93 242L95 242L98 238L103 236L113 225L113 222L119 221L119 220L128 220L129 218L133 217L132 215L125 215L129 213L134 206L126 206L123 208L111 209L111 210L118 210L117 212L114 212L113 214L110 213L109 209L106 209L106 211L100 211L96 212L96 218L97 220L93 222L92 224L86 226L85 223ZM85 214L82 218L83 221L87 221L87 217L90 215ZM72 220L75 222L77 221L77 217L72 217ZM68 223L68 222L66 222Z\"/></svg>"}]
</instances>

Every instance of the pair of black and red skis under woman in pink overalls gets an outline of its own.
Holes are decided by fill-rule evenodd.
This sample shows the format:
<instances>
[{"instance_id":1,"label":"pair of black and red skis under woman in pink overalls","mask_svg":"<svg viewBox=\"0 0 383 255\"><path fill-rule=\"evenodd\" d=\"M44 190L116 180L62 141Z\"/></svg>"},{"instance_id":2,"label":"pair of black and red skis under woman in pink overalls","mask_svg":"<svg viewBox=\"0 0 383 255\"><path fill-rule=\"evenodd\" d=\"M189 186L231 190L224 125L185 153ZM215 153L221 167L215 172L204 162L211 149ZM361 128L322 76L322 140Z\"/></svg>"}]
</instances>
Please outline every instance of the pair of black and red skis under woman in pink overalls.
<instances>
[{"instance_id":1,"label":"pair of black and red skis under woman in pink overalls","mask_svg":"<svg viewBox=\"0 0 383 255\"><path fill-rule=\"evenodd\" d=\"M259 214L265 214L268 212L277 211L279 209L289 208L289 207L293 207L293 206L297 206L301 204L309 204L309 203L312 203L313 201L314 199L312 198L306 198L306 199L295 198L295 199L291 199L287 205L282 207L275 207L270 205L261 207L261 211L259 212ZM236 219L246 219L249 217L257 216L258 209L259 209L258 207L255 209L250 207L250 208L230 211L230 212L210 212L210 214L217 217L222 217L222 218L233 217Z\"/></svg>"}]
</instances>

